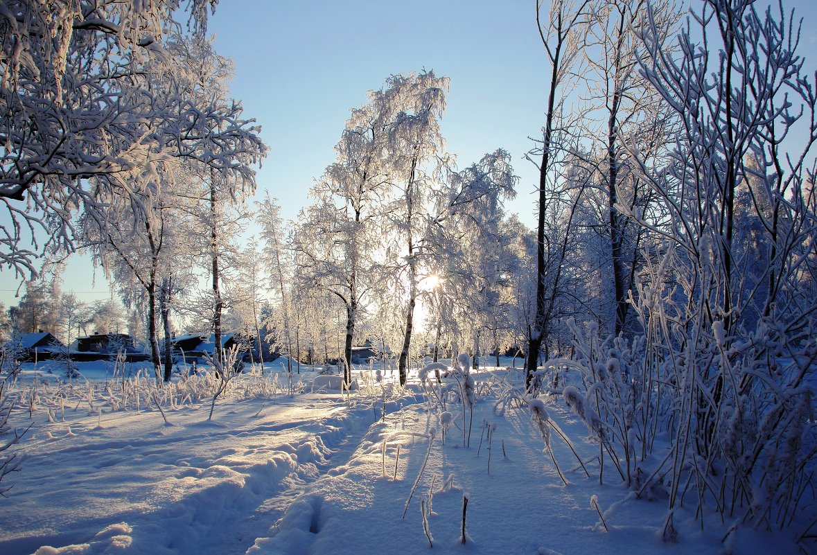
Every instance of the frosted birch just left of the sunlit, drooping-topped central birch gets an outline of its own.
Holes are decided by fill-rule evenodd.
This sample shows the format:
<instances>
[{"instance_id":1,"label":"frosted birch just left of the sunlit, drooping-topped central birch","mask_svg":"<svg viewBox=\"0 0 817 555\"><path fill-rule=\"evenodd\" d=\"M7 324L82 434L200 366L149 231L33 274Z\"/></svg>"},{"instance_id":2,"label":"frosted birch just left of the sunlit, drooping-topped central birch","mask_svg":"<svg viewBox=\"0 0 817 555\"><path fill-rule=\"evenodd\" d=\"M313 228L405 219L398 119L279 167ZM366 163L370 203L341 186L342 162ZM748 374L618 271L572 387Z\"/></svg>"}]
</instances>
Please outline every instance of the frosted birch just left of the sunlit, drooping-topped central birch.
<instances>
[{"instance_id":1,"label":"frosted birch just left of the sunlit, drooping-topped central birch","mask_svg":"<svg viewBox=\"0 0 817 555\"><path fill-rule=\"evenodd\" d=\"M395 178L405 163L400 149L412 124L404 110L411 107L415 87L426 76L396 76L381 91L369 92L366 105L352 110L335 150L336 161L326 168L310 195L315 203L302 213L293 245L299 253L299 280L311 280L331 293L346 313L344 381L351 380L351 352L355 328L361 321L368 294L382 281L382 230ZM434 83L433 74L428 87ZM419 111L425 110L420 107ZM424 139L418 138L417 141ZM418 163L420 155L413 163Z\"/></svg>"}]
</instances>

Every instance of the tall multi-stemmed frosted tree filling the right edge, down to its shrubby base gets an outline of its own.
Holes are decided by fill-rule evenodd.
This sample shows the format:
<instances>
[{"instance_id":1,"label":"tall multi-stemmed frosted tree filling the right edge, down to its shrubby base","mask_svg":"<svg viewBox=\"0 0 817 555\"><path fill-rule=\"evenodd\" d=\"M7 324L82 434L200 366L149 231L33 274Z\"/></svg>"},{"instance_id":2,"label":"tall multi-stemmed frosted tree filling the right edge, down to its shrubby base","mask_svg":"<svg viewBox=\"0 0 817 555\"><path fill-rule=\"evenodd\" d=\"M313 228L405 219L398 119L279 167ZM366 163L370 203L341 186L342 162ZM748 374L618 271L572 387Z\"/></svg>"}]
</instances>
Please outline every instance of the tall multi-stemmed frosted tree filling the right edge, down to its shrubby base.
<instances>
[{"instance_id":1,"label":"tall multi-stemmed frosted tree filling the right edge, down to its shrubby base","mask_svg":"<svg viewBox=\"0 0 817 555\"><path fill-rule=\"evenodd\" d=\"M813 525L798 519L817 454L803 387L817 361L817 79L792 14L758 8L702 2L675 55L648 4L641 71L680 124L657 157L628 144L652 216L617 204L653 237L630 297L644 333L574 328L600 457L637 495L666 495L666 538L685 495L735 526L796 523L802 539ZM661 429L671 448L650 468Z\"/></svg>"}]
</instances>

